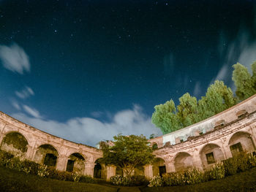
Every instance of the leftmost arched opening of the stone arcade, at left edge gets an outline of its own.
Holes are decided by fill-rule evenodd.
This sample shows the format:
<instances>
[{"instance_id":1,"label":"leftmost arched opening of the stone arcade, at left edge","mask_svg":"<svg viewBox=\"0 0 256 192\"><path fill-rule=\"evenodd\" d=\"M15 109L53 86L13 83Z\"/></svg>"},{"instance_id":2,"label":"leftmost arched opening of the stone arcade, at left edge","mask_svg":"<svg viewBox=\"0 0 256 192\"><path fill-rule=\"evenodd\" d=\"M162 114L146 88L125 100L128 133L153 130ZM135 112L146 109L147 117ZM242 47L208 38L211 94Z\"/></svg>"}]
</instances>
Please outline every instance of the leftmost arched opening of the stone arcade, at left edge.
<instances>
[{"instance_id":1,"label":"leftmost arched opening of the stone arcade, at left edge","mask_svg":"<svg viewBox=\"0 0 256 192\"><path fill-rule=\"evenodd\" d=\"M1 150L5 150L12 155L26 155L26 151L28 150L28 145L26 138L18 133L18 132L11 132L7 134L3 141L1 142Z\"/></svg>"}]
</instances>

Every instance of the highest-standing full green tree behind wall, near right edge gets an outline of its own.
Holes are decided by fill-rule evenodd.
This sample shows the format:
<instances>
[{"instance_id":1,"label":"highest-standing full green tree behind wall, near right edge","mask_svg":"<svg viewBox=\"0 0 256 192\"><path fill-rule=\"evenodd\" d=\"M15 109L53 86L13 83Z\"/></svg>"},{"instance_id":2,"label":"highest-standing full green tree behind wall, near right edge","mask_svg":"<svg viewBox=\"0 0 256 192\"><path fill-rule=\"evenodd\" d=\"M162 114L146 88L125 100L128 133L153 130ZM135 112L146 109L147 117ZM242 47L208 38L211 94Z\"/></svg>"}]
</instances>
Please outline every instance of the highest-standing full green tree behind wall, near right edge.
<instances>
[{"instance_id":1,"label":"highest-standing full green tree behind wall, near right edge","mask_svg":"<svg viewBox=\"0 0 256 192\"><path fill-rule=\"evenodd\" d=\"M233 65L233 68L232 80L236 85L236 96L238 96L238 99L244 100L255 94L255 83L252 80L255 78L255 75L251 77L248 69L239 63ZM255 73L255 64L252 64L252 72Z\"/></svg>"}]
</instances>

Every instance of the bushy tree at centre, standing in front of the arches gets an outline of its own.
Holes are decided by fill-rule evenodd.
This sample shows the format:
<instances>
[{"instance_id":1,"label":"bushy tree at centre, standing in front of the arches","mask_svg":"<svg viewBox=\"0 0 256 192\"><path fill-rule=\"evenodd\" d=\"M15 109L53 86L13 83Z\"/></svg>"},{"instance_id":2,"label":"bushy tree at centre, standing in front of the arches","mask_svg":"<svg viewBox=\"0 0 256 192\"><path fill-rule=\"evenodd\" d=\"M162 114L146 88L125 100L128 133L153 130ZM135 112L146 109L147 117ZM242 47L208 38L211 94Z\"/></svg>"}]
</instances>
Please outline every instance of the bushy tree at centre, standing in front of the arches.
<instances>
[{"instance_id":1,"label":"bushy tree at centre, standing in front of the arches","mask_svg":"<svg viewBox=\"0 0 256 192\"><path fill-rule=\"evenodd\" d=\"M130 176L136 166L149 164L154 158L153 150L143 135L123 136L118 134L113 138L113 146L102 145L102 163L120 167L127 176Z\"/></svg>"}]
</instances>

